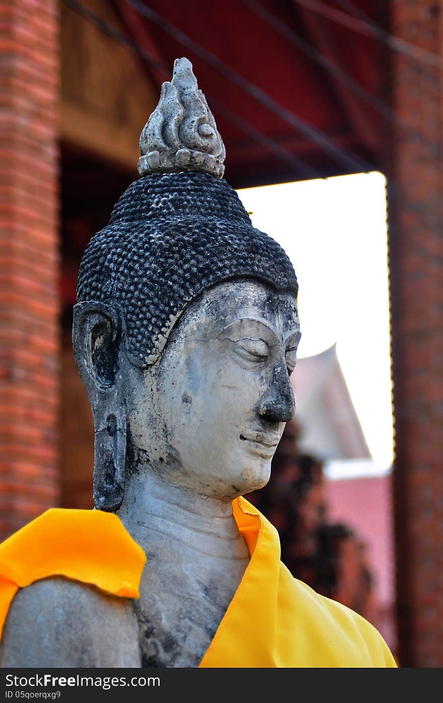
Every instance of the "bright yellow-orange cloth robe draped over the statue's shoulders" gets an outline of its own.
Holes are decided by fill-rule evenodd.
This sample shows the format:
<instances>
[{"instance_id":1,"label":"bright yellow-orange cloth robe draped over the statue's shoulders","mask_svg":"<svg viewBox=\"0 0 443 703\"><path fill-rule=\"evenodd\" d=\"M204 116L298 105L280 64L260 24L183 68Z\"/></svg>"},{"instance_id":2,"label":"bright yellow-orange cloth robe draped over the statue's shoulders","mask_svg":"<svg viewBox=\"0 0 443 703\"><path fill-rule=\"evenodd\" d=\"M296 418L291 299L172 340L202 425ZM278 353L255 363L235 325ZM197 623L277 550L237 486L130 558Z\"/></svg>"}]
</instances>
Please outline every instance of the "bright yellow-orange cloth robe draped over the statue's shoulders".
<instances>
[{"instance_id":1,"label":"bright yellow-orange cloth robe draped over the statue's shoulders","mask_svg":"<svg viewBox=\"0 0 443 703\"><path fill-rule=\"evenodd\" d=\"M232 508L251 561L200 667L397 666L368 621L291 576L275 527L253 505L237 498ZM145 561L117 515L47 510L0 545L0 635L18 588L66 576L138 598Z\"/></svg>"}]
</instances>

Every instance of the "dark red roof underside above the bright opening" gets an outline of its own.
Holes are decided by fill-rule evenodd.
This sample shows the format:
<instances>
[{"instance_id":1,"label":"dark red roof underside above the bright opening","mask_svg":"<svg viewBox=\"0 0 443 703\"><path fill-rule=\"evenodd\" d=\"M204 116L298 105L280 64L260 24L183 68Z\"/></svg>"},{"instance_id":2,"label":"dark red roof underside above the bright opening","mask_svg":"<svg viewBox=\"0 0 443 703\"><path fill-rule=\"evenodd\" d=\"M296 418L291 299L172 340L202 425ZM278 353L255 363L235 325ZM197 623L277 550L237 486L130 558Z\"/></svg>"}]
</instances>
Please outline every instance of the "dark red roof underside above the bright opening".
<instances>
[{"instance_id":1,"label":"dark red roof underside above the bright opening","mask_svg":"<svg viewBox=\"0 0 443 703\"><path fill-rule=\"evenodd\" d=\"M381 0L114 5L157 91L175 58L192 61L232 185L381 168Z\"/></svg>"}]
</instances>

